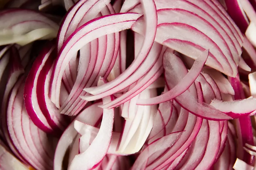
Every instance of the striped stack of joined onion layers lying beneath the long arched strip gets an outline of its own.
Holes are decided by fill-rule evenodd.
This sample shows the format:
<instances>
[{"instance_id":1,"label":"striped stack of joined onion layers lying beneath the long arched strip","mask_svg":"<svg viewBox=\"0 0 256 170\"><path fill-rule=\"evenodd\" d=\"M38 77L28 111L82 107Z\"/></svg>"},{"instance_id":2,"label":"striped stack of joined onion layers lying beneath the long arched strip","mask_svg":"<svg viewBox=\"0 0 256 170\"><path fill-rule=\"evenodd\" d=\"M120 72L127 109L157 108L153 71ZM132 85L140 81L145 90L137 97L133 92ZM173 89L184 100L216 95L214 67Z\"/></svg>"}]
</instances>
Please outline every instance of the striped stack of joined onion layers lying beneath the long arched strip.
<instances>
[{"instance_id":1,"label":"striped stack of joined onion layers lying beneath the long arched strip","mask_svg":"<svg viewBox=\"0 0 256 170\"><path fill-rule=\"evenodd\" d=\"M114 12L115 11L113 10L111 5L108 5L106 8L104 8L101 11L103 15L107 15ZM84 87L95 86L99 76L107 78L111 69L113 68L115 64L114 61L116 60L117 54L118 54L119 34L118 33L108 34L107 36L104 36L104 37L107 38L107 40L104 38L100 38L98 41L99 52L93 50L92 44L91 44L92 52L91 52L90 62L86 61L88 59L86 59L85 56L81 56L81 62L80 62L81 67L79 67L79 70L78 70L79 78L77 78L70 96L65 101L64 107L61 108L61 113L69 114L69 115L77 114L81 110L81 108L84 106L84 104L86 104L86 101L82 100L79 97L86 94L86 92L82 91L82 89ZM104 42L104 40L106 40L107 42ZM106 46L106 44L108 45ZM80 49L81 55L87 53L87 51L83 49L84 47ZM93 55L96 55L96 57L94 57ZM95 63L95 67L93 66L93 63ZM83 65L85 65L86 67L84 68ZM87 67L88 65L90 67ZM87 71L84 71L86 69Z\"/></svg>"}]
</instances>

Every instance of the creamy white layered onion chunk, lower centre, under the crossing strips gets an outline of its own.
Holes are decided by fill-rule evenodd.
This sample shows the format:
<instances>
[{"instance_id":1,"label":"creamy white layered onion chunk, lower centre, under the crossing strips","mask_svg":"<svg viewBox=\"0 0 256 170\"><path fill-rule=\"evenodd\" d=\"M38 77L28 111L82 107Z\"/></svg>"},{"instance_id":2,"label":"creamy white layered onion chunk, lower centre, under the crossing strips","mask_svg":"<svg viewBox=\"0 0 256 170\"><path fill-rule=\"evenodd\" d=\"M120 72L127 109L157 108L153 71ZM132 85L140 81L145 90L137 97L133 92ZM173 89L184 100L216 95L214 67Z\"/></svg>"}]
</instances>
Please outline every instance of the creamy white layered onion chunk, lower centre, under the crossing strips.
<instances>
[{"instance_id":1,"label":"creamy white layered onion chunk, lower centre, under the crossing strips","mask_svg":"<svg viewBox=\"0 0 256 170\"><path fill-rule=\"evenodd\" d=\"M153 89L152 89L153 90ZM145 90L139 94L137 100L155 96L155 90ZM136 102L130 101L130 107L135 107ZM132 105L133 104L133 105ZM127 108L128 109L128 108ZM126 111L125 108L122 112ZM132 154L138 152L145 143L152 127L156 107L138 106L137 109L129 109L125 126L120 138L118 152ZM123 114L123 113L122 113ZM132 116L131 114L134 114ZM129 119L130 118L130 119Z\"/></svg>"}]
</instances>

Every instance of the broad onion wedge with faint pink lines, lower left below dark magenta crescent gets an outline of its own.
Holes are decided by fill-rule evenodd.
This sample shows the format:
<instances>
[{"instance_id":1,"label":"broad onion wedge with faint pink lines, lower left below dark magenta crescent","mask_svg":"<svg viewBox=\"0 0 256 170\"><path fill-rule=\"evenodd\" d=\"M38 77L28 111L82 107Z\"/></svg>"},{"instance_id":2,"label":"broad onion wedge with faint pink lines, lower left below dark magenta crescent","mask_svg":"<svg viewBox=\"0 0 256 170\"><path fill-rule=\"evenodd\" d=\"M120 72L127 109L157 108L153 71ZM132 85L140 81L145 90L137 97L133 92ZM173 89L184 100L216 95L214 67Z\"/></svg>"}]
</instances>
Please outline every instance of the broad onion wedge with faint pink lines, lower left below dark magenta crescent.
<instances>
[{"instance_id":1,"label":"broad onion wedge with faint pink lines, lower left below dark magenta crescent","mask_svg":"<svg viewBox=\"0 0 256 170\"><path fill-rule=\"evenodd\" d=\"M52 169L54 138L46 136L29 119L23 102L24 78L13 88L7 109L11 140L21 156L36 169Z\"/></svg>"}]
</instances>

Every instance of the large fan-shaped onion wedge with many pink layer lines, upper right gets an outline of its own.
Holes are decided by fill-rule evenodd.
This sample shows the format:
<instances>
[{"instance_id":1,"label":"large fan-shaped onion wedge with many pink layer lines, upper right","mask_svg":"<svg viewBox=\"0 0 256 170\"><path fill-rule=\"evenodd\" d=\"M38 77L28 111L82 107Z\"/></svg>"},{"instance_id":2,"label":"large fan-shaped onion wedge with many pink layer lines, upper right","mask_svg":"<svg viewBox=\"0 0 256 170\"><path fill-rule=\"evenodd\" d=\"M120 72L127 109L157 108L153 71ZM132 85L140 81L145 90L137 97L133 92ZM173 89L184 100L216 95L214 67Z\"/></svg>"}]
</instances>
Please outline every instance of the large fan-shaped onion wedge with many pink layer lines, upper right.
<instances>
[{"instance_id":1,"label":"large fan-shaped onion wedge with many pink layer lines, upper right","mask_svg":"<svg viewBox=\"0 0 256 170\"><path fill-rule=\"evenodd\" d=\"M230 23L230 21L227 20L227 18L229 18L229 17L226 18L227 15L222 16L223 13L219 14L218 13L219 11L215 11L214 9L211 9L213 7L208 8L209 10L207 12L209 12L209 13L205 12L203 6L210 6L209 5L210 3L205 4L205 2L203 0L192 1L193 4L191 4L191 2L181 1L180 3L185 3L186 5L180 5L180 6L179 5L175 6L175 3L176 3L176 1L173 1L173 3L169 3L169 1L166 1L166 2L161 1L161 3L159 3L160 5L156 3L157 9L158 9L158 11L157 11L158 18L159 18L158 19L158 28L157 28L157 33L156 33L156 41L159 43L162 43L174 50L177 50L183 54L186 54L187 56L192 57L194 59L197 57L196 55L198 55L201 51L209 48L212 53L210 54L209 60L206 64L209 65L210 67L218 69L219 71L225 72L228 75L232 74L232 76L235 77L236 73L237 73L237 65L239 62L240 54L241 54L241 43L240 43L240 45L239 44L235 45L236 48L235 48L234 44L235 44L235 41L241 42L241 40L240 40L241 33L240 32L237 33L238 29L236 29L236 28L234 29L234 23ZM188 8L188 6L190 6L190 7ZM195 7L195 6L197 6L197 7ZM138 7L138 5L136 7ZM130 11L138 12L136 10L136 7L135 7L135 9L130 10ZM169 8L169 7L173 8L173 9L163 9L163 8ZM194 11L190 11L193 8L196 8L196 9L194 9ZM186 12L186 13L188 13L188 15L194 15L194 17L196 16L194 18L195 19L194 21L186 20L186 18L191 18L191 17L183 17L184 19L179 18L179 17L182 17L182 15L184 14L184 12L186 10L190 11L190 12ZM163 13L162 11L166 11L166 12ZM172 12L169 14L170 11L172 11ZM196 13L196 15L194 12ZM170 15L173 15L173 16L178 15L179 17L171 17L171 18L166 17L166 16L170 16ZM188 16L188 15L186 15L186 16ZM207 22L211 26L208 26L208 27L203 26L203 24L206 24L206 22L204 22L203 24L200 24L200 25L193 26L194 23L200 22L199 21L200 17L201 17L201 19L203 19L206 16L207 16L207 18L211 18L209 16L215 17L214 19L213 18L209 19L209 22L211 22L211 23L209 23L207 20ZM218 16L217 18L219 20L222 20L222 22L219 22L219 23L223 23L221 26L218 25L218 28L216 28L217 24L213 24L217 20L216 16ZM173 21L171 21L171 20L173 20ZM187 25L184 22L186 22ZM212 28L212 29L206 31L205 28L206 29ZM225 30L223 30L224 28L225 28ZM143 34L143 23L141 23L141 21L136 22L135 26L132 27L132 29L140 34ZM227 40L228 42L226 40L224 40L223 38L221 38L222 36L224 36L224 37L227 36L227 30L229 30L229 31L232 30L231 34L233 34L232 36L234 36L234 37L232 37L232 36L230 36L231 34L229 34L229 36L228 36L229 40ZM224 44L226 44L225 46L229 46L230 48L235 48L238 53L233 53L234 51L232 50L233 54L231 54L231 51L227 52L226 51L227 49L223 49L223 46L220 45L220 41L219 41L220 39L217 40L218 36L216 36L216 33L213 33L214 37L212 37L213 34L212 35L209 34L211 31L221 32L221 34L220 33L217 33L217 34L220 36L219 38L222 39L221 41L224 42ZM170 32L172 32L172 33L170 33ZM181 32L183 32L183 33L181 34ZM193 35L193 36L191 36L191 35ZM203 41L200 41L200 42L195 41L197 38L203 39L204 43L203 43ZM167 40L169 42L167 42ZM173 40L173 42L170 43L170 40ZM197 52L195 52L195 51L197 51ZM219 52L217 52L217 51L219 51ZM219 53L219 54L217 54L217 53ZM222 60L223 60L223 62L224 62L224 60L226 60L225 64L222 62ZM225 70L223 70L223 68L225 68Z\"/></svg>"}]
</instances>

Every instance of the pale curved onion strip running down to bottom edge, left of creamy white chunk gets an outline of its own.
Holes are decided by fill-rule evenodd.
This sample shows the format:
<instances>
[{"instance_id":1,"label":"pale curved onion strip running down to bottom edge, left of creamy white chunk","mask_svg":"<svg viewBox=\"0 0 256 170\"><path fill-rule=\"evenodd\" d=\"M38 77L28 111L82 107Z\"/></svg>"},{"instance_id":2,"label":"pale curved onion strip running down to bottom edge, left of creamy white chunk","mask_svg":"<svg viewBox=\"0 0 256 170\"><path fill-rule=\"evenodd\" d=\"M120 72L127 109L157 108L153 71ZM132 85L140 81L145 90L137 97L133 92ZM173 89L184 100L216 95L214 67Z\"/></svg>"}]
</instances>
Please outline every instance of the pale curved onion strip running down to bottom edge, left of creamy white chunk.
<instances>
[{"instance_id":1,"label":"pale curved onion strip running down to bottom edge, left of creamy white chunk","mask_svg":"<svg viewBox=\"0 0 256 170\"><path fill-rule=\"evenodd\" d=\"M104 83L104 80L101 78L98 82L98 86ZM112 96L103 98L104 102L109 102L112 100ZM70 170L89 170L93 169L95 166L98 165L107 154L111 136L112 136L112 129L113 129L113 122L114 122L114 109L103 109L103 117L101 121L100 130L88 147L88 149L75 156L72 160L68 169ZM99 150L98 147L101 146ZM84 161L85 160L85 161Z\"/></svg>"}]
</instances>

